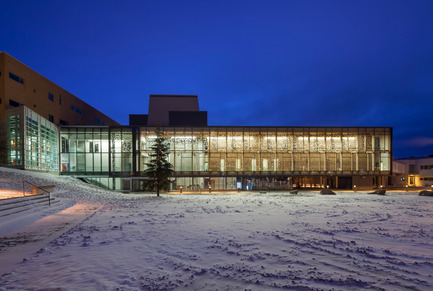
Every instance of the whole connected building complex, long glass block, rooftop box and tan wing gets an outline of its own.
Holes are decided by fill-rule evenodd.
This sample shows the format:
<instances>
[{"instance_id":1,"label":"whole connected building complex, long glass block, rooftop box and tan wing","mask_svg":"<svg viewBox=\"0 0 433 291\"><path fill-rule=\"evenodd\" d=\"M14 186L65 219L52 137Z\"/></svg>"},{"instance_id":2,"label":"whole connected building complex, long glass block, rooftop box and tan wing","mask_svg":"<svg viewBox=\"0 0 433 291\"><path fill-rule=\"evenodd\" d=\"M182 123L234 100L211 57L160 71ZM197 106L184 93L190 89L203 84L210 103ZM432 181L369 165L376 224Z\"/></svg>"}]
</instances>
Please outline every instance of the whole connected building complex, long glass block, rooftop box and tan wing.
<instances>
[{"instance_id":1,"label":"whole connected building complex, long glass block, rooftop box and tan wing","mask_svg":"<svg viewBox=\"0 0 433 291\"><path fill-rule=\"evenodd\" d=\"M18 62L6 54L3 59ZM8 85L13 90L2 87L6 93L1 96L8 104L2 113L1 156L9 167L52 171L114 190L140 191L147 179L144 170L155 129L161 127L174 167L171 190L371 189L390 182L391 127L208 126L207 112L200 111L196 95L150 95L148 114L130 115L128 126L97 117L102 124L87 118L90 107L76 97L67 99L76 103L65 103L65 93L54 87L43 87L46 94L35 97L41 103L29 102L24 93L13 99L10 92L19 86L25 85L21 89L30 95L42 87L31 85L26 70L13 70L4 63L1 82L14 82ZM51 107L39 110L46 104ZM56 115L53 108L64 105L67 114L59 109ZM76 115L82 119L73 119Z\"/></svg>"}]
</instances>

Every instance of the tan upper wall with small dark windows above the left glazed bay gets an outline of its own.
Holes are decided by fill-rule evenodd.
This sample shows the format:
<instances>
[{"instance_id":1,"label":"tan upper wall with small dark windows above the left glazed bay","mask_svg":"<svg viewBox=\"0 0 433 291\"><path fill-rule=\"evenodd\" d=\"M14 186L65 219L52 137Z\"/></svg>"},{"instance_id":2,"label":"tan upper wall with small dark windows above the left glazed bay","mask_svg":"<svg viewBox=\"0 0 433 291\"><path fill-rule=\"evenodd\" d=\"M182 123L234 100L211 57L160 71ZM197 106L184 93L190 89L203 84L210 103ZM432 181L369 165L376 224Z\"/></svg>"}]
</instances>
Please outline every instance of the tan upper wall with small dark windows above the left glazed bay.
<instances>
[{"instance_id":1,"label":"tan upper wall with small dark windows above the left glazed bay","mask_svg":"<svg viewBox=\"0 0 433 291\"><path fill-rule=\"evenodd\" d=\"M60 124L60 119L70 125L99 125L96 119L104 125L118 125L116 121L4 52L0 53L0 71L0 117L4 116L4 109L10 107L9 100L12 99L46 119L52 115L56 125ZM9 72L22 78L23 84L9 78ZM53 94L53 101L49 100L49 93ZM72 110L71 106L79 108L83 114Z\"/></svg>"}]
</instances>

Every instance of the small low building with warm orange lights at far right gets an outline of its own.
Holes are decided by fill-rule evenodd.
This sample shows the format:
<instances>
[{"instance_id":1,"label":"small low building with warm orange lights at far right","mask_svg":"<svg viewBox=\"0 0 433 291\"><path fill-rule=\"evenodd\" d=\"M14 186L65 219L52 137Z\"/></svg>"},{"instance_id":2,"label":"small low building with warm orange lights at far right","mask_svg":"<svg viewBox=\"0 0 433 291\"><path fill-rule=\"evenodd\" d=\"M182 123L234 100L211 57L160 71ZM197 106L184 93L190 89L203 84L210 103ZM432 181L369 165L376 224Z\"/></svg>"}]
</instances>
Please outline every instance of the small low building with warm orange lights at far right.
<instances>
[{"instance_id":1,"label":"small low building with warm orange lights at far right","mask_svg":"<svg viewBox=\"0 0 433 291\"><path fill-rule=\"evenodd\" d=\"M432 187L433 155L393 161L394 184L400 187Z\"/></svg>"}]
</instances>

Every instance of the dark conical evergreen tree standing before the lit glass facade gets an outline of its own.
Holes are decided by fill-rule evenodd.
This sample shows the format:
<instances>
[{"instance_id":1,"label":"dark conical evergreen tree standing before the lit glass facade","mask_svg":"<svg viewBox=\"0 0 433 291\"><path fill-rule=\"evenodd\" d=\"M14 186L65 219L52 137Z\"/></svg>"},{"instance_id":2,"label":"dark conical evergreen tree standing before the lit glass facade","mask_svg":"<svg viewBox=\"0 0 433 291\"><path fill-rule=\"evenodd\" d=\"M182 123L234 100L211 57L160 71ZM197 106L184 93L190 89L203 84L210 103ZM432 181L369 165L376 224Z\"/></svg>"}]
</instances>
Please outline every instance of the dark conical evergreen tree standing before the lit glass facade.
<instances>
[{"instance_id":1,"label":"dark conical evergreen tree standing before the lit glass facade","mask_svg":"<svg viewBox=\"0 0 433 291\"><path fill-rule=\"evenodd\" d=\"M151 179L149 186L151 189L156 189L156 196L159 197L160 189L169 188L173 166L167 161L169 146L159 127L155 130L155 134L156 139L151 147L150 161L146 163L145 174Z\"/></svg>"}]
</instances>

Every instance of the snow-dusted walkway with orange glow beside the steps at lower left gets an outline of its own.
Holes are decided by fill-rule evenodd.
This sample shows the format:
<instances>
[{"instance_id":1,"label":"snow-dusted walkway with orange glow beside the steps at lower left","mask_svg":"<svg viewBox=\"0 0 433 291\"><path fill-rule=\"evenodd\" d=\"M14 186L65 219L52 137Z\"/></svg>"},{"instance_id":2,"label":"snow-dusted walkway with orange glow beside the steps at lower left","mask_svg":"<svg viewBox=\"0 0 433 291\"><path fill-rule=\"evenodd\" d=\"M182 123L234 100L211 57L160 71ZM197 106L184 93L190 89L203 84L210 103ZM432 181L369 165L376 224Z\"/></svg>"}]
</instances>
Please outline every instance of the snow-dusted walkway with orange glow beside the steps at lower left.
<instances>
[{"instance_id":1,"label":"snow-dusted walkway with orange glow beside the steps at lower left","mask_svg":"<svg viewBox=\"0 0 433 291\"><path fill-rule=\"evenodd\" d=\"M50 241L82 222L99 208L100 204L79 202L1 237L0 276L12 272L24 259L33 256Z\"/></svg>"}]
</instances>

